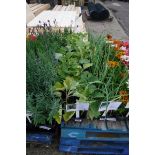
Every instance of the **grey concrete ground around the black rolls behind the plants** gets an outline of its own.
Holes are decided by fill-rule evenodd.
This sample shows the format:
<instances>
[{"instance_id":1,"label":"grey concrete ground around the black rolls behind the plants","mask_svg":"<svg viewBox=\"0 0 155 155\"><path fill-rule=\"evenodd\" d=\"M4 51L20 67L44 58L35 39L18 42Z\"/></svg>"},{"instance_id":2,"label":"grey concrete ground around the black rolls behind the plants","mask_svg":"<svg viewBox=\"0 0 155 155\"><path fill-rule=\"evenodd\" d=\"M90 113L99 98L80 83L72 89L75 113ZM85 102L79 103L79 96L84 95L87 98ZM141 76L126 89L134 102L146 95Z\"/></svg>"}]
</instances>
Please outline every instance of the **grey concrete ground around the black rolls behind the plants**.
<instances>
[{"instance_id":1,"label":"grey concrete ground around the black rolls behind the plants","mask_svg":"<svg viewBox=\"0 0 155 155\"><path fill-rule=\"evenodd\" d=\"M112 21L92 21L88 20L83 9L83 21L86 25L87 32L95 35L111 34L115 39L128 40L129 32L129 3L117 0L96 0L96 3L101 3L105 8L109 9Z\"/></svg>"}]
</instances>

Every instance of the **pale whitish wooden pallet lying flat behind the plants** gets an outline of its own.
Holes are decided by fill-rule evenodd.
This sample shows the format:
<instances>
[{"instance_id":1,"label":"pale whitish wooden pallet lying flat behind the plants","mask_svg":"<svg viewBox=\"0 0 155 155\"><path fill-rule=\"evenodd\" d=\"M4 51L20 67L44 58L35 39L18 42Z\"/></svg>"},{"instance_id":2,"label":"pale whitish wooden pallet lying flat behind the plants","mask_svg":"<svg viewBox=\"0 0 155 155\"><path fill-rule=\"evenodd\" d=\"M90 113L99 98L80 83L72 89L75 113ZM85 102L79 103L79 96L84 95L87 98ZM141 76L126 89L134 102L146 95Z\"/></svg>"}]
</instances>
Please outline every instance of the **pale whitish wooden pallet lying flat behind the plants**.
<instances>
[{"instance_id":1,"label":"pale whitish wooden pallet lying flat behind the plants","mask_svg":"<svg viewBox=\"0 0 155 155\"><path fill-rule=\"evenodd\" d=\"M39 21L47 23L48 20L50 21L53 30L60 29L63 31L64 28L71 28L76 33L86 32L85 24L82 20L81 8L75 7L75 5L56 5L52 10L40 13L36 18L29 22L27 26L28 28L37 27L37 25L40 25ZM57 21L56 25L53 25L54 20Z\"/></svg>"}]
</instances>

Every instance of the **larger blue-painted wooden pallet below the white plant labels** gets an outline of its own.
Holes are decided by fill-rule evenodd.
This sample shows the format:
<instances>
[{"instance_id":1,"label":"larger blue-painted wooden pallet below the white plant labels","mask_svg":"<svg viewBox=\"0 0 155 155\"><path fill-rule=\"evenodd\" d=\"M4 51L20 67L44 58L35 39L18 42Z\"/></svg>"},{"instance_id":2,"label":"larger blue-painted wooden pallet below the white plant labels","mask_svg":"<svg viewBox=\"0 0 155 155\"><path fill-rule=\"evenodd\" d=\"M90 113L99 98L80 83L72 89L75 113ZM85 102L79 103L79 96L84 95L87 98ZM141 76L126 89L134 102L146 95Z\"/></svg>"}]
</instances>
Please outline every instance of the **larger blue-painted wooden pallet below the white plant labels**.
<instances>
[{"instance_id":1,"label":"larger blue-painted wooden pallet below the white plant labels","mask_svg":"<svg viewBox=\"0 0 155 155\"><path fill-rule=\"evenodd\" d=\"M75 154L128 155L128 128L124 121L64 123L59 150Z\"/></svg>"}]
</instances>

